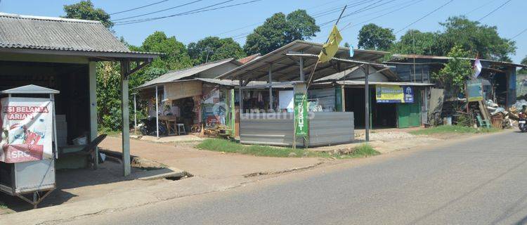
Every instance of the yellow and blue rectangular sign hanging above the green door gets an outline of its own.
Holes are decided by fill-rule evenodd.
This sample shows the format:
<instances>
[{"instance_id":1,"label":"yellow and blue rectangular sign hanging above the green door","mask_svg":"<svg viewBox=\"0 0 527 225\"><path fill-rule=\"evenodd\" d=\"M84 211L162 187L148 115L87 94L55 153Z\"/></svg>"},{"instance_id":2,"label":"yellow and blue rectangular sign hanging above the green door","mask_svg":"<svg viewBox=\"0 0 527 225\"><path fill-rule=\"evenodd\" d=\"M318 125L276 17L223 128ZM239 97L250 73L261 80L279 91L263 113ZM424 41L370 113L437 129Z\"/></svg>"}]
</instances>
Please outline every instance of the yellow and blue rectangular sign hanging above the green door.
<instances>
[{"instance_id":1,"label":"yellow and blue rectangular sign hanging above the green door","mask_svg":"<svg viewBox=\"0 0 527 225\"><path fill-rule=\"evenodd\" d=\"M412 86L376 85L377 103L414 103L414 89Z\"/></svg>"}]
</instances>

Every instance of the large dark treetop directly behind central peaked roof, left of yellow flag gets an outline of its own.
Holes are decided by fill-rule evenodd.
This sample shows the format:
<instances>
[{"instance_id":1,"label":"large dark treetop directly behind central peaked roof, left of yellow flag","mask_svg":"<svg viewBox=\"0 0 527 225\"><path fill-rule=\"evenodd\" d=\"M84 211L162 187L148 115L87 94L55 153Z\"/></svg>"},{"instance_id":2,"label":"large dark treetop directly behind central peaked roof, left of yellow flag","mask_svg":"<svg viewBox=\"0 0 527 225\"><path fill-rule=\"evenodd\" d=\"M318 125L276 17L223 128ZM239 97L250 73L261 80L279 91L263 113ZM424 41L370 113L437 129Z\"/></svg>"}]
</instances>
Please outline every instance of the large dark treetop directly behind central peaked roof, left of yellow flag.
<instances>
[{"instance_id":1,"label":"large dark treetop directly behind central peaked roof, left of yellow flag","mask_svg":"<svg viewBox=\"0 0 527 225\"><path fill-rule=\"evenodd\" d=\"M291 41L311 39L319 31L320 27L316 25L315 19L305 10L299 9L287 16L284 13L275 13L247 36L243 48L247 55L263 55Z\"/></svg>"}]
</instances>

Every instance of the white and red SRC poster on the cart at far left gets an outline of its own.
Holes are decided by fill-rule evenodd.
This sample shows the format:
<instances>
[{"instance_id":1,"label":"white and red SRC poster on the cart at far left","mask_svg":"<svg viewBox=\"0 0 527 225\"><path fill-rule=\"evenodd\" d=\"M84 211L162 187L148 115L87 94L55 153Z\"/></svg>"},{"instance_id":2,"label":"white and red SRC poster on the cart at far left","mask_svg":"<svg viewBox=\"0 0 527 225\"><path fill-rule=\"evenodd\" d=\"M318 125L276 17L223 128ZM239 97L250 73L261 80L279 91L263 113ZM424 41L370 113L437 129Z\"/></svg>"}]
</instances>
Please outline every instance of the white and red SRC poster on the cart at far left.
<instances>
[{"instance_id":1,"label":"white and red SRC poster on the cart at far left","mask_svg":"<svg viewBox=\"0 0 527 225\"><path fill-rule=\"evenodd\" d=\"M0 161L53 158L53 104L47 98L2 98Z\"/></svg>"}]
</instances>

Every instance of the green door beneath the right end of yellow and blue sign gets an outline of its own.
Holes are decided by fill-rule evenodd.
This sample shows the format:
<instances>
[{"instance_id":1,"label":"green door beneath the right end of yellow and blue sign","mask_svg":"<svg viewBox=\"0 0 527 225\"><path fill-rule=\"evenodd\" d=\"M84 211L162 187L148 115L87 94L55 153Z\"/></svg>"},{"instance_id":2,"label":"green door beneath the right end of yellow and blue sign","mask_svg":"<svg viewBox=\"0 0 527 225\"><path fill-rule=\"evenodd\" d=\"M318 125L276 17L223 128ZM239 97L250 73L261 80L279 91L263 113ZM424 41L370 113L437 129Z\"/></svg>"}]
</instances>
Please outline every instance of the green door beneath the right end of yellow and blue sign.
<instances>
[{"instance_id":1,"label":"green door beneath the right end of yellow and blue sign","mask_svg":"<svg viewBox=\"0 0 527 225\"><path fill-rule=\"evenodd\" d=\"M398 103L398 128L421 126L420 94L415 92L414 103Z\"/></svg>"}]
</instances>

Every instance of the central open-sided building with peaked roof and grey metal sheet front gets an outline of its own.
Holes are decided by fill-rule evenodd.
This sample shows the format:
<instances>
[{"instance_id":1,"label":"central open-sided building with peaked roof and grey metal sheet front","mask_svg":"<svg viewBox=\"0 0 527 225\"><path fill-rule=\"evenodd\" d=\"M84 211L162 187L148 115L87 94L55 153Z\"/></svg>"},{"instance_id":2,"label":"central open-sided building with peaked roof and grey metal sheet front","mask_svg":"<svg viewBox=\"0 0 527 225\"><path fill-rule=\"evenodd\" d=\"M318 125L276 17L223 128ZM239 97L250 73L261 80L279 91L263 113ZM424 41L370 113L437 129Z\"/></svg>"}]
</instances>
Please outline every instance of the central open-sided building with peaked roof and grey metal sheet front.
<instances>
[{"instance_id":1,"label":"central open-sided building with peaked roof and grey metal sheet front","mask_svg":"<svg viewBox=\"0 0 527 225\"><path fill-rule=\"evenodd\" d=\"M377 85L397 87L401 89L401 96L404 96L403 86L430 85L397 82L396 75L379 63L386 52L354 50L351 56L349 48L339 48L334 58L328 63L319 63L313 77L310 77L322 46L308 41L293 41L218 77L240 82L242 143L318 146L353 141L356 124L365 124L365 72L372 78L368 86L371 90L370 101L375 101ZM305 90L309 79L314 82ZM266 84L247 86L250 82ZM280 89L276 90L276 87ZM256 105L253 99L247 101L250 96L247 91L255 88L267 90L267 93L261 94L261 100ZM307 139L295 137L293 131L294 96L302 91L307 91L308 111L314 115L309 120ZM398 113L395 104L391 108L380 102L375 105L378 107L373 109L377 111L371 111L378 117L375 122L396 127L398 120L389 121ZM419 117L417 126L420 124Z\"/></svg>"}]
</instances>

